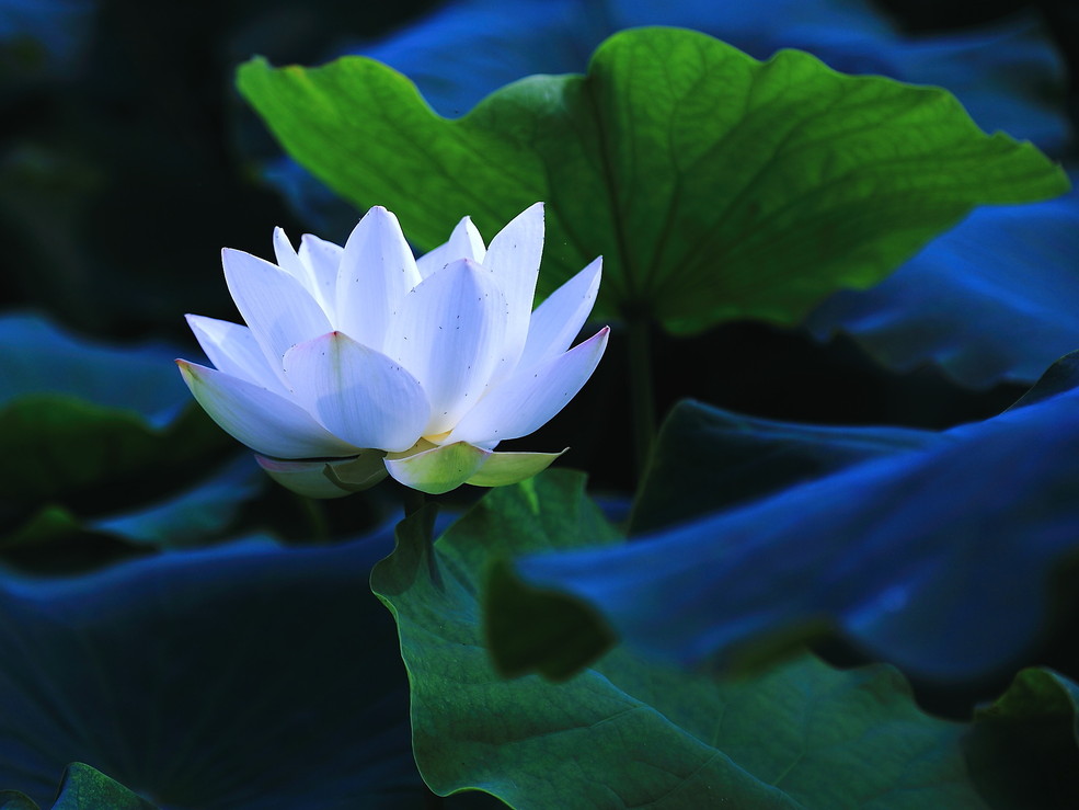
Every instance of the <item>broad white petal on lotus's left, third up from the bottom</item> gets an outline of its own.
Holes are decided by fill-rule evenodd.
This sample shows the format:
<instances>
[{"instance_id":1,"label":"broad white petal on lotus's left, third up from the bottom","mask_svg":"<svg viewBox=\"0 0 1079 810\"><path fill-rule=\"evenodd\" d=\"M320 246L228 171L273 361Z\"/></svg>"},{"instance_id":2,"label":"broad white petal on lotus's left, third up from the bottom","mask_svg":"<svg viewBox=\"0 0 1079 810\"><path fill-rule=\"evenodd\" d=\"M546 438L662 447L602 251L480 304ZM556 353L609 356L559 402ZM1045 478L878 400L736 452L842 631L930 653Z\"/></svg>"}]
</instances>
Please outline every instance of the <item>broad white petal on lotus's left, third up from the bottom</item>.
<instances>
[{"instance_id":1,"label":"broad white petal on lotus's left, third up from the bottom","mask_svg":"<svg viewBox=\"0 0 1079 810\"><path fill-rule=\"evenodd\" d=\"M221 260L232 300L278 375L285 352L330 331L322 308L285 271L239 250L225 249Z\"/></svg>"}]
</instances>

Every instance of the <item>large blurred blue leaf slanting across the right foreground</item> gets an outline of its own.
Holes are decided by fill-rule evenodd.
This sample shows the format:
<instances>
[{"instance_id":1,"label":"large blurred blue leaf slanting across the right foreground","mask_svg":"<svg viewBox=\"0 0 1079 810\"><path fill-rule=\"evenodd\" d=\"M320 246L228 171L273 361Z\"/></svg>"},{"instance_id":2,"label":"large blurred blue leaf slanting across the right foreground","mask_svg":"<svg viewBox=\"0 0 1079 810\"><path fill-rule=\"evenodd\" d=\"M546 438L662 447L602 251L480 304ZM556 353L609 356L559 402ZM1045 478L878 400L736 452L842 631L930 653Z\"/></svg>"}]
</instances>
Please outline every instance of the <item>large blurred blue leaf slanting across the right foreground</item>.
<instances>
[{"instance_id":1,"label":"large blurred blue leaf slanting across the right foreground","mask_svg":"<svg viewBox=\"0 0 1079 810\"><path fill-rule=\"evenodd\" d=\"M829 621L917 676L999 675L1046 631L1049 575L1079 548L1077 406L1079 388L624 547L526 557L516 570L530 590L515 603L503 583L490 609L527 636L543 621L531 589L554 590L682 664L767 657ZM704 438L722 457L722 433Z\"/></svg>"}]
</instances>

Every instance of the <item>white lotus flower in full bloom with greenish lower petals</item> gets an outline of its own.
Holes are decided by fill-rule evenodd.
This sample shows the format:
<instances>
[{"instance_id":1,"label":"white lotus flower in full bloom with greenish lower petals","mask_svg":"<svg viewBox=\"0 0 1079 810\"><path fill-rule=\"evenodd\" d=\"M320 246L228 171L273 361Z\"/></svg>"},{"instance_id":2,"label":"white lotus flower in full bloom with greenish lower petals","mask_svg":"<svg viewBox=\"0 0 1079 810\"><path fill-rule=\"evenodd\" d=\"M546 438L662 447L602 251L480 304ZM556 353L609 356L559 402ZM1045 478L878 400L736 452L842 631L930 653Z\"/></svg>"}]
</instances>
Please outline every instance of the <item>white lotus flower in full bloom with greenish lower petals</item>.
<instances>
[{"instance_id":1,"label":"white lotus flower in full bloom with greenish lower petals","mask_svg":"<svg viewBox=\"0 0 1079 810\"><path fill-rule=\"evenodd\" d=\"M542 248L542 204L487 249L466 217L418 261L380 207L344 248L305 236L297 252L278 228L276 265L222 252L246 327L187 316L216 369L176 363L214 421L302 494L344 495L387 472L434 494L514 483L561 454L494 447L562 410L607 346L604 328L570 349L599 259L532 311Z\"/></svg>"}]
</instances>

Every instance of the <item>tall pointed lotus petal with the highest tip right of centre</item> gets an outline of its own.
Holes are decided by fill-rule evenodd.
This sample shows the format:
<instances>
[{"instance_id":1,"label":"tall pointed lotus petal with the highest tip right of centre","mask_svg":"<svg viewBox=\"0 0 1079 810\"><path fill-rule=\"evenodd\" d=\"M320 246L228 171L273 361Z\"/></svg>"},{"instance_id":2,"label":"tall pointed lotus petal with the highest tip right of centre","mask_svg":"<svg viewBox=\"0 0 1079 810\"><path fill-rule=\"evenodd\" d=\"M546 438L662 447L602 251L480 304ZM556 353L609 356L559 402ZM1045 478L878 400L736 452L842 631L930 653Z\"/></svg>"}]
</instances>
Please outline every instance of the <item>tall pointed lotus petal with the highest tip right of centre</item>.
<instances>
[{"instance_id":1,"label":"tall pointed lotus petal with the highest tip right of centre","mask_svg":"<svg viewBox=\"0 0 1079 810\"><path fill-rule=\"evenodd\" d=\"M539 277L540 259L543 255L543 204L526 208L491 240L483 267L491 272L498 289L506 296L508 326L505 353L509 365L495 374L493 383L501 383L516 367L532 311L536 279Z\"/></svg>"}]
</instances>

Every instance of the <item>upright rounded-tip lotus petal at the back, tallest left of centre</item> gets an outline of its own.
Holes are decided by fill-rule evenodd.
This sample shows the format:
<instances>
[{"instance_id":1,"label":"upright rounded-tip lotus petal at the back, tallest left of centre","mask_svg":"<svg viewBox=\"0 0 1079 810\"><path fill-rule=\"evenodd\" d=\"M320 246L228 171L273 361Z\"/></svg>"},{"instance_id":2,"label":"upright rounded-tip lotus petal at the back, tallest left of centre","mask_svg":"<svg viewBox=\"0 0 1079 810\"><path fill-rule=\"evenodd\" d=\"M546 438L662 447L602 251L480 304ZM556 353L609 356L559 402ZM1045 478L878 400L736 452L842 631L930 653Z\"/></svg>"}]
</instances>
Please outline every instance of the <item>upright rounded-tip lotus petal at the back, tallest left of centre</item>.
<instances>
[{"instance_id":1,"label":"upright rounded-tip lotus petal at the back, tallest left of centre","mask_svg":"<svg viewBox=\"0 0 1079 810\"><path fill-rule=\"evenodd\" d=\"M382 351L401 299L421 281L397 217L375 206L345 243L337 273L337 327L358 343Z\"/></svg>"}]
</instances>

